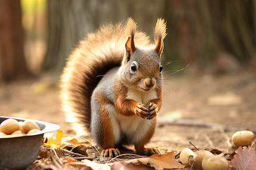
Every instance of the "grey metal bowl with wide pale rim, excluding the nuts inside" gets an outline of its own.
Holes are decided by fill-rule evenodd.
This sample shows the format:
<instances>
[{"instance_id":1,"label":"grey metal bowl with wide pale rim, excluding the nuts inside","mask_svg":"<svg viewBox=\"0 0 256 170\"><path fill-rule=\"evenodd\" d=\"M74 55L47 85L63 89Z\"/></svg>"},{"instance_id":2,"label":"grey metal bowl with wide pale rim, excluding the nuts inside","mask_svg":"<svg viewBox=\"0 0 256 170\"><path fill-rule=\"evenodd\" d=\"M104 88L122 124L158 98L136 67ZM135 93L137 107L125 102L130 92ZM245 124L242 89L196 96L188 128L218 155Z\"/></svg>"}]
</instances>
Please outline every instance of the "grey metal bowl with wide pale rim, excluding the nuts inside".
<instances>
[{"instance_id":1,"label":"grey metal bowl with wide pale rim, excluding the nuts inside","mask_svg":"<svg viewBox=\"0 0 256 170\"><path fill-rule=\"evenodd\" d=\"M0 124L8 118L13 118L17 121L28 120L25 118L0 116ZM59 125L48 122L30 121L38 124L41 131L32 135L17 137L5 135L0 137L0 169L26 169L38 157L44 133L60 129Z\"/></svg>"}]
</instances>

